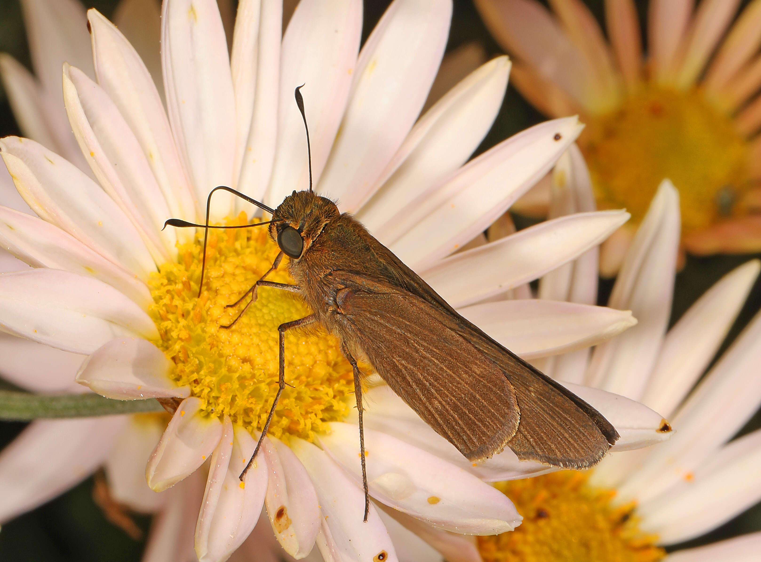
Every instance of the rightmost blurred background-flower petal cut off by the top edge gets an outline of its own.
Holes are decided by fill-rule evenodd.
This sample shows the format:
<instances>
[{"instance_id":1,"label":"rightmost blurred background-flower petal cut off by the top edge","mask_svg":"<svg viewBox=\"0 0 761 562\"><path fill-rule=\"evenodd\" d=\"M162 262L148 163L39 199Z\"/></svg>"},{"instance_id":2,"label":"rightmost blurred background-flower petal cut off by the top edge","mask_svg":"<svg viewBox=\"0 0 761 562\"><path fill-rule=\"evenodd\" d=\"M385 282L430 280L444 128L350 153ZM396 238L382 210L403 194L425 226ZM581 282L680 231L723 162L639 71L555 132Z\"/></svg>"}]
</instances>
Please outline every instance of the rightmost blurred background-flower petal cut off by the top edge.
<instances>
[{"instance_id":1,"label":"rightmost blurred background-flower petal cut off by the top edge","mask_svg":"<svg viewBox=\"0 0 761 562\"><path fill-rule=\"evenodd\" d=\"M740 0L705 0L698 5L685 37L684 54L675 69L678 86L689 88L695 84L739 4Z\"/></svg>"}]
</instances>

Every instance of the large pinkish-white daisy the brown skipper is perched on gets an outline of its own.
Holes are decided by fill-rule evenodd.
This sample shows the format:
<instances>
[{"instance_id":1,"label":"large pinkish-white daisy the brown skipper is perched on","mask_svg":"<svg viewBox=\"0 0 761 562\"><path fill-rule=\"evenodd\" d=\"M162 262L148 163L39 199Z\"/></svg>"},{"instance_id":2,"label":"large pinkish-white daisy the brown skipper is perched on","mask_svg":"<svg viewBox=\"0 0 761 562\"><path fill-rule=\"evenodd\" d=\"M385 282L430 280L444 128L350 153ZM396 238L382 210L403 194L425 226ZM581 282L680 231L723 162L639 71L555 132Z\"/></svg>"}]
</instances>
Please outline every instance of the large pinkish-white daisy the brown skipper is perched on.
<instances>
[{"instance_id":1,"label":"large pinkish-white daisy the brown skipper is perched on","mask_svg":"<svg viewBox=\"0 0 761 562\"><path fill-rule=\"evenodd\" d=\"M187 231L162 230L164 221L196 222L197 202L219 184L272 206L306 187L303 125L291 101L295 86L306 82L317 191L355 211L495 339L539 359L600 343L635 321L627 311L584 304L479 303L574 260L628 215L563 216L450 256L549 171L581 132L578 121L542 123L463 166L496 116L510 63L505 57L487 62L419 117L444 51L449 0L396 0L361 52L357 0L304 0L284 37L279 2L240 2L238 14L228 56L215 2L164 2L165 113L135 49L106 18L88 12L97 81L65 64L62 92L97 182L37 142L2 139L0 154L14 184L39 218L0 209L3 247L31 266L0 276L0 326L14 337L8 349L17 362L27 359L21 346L27 341L40 353L65 353L72 363L87 356L80 382L112 398L161 398L174 410L146 475L154 490L184 481L157 522L165 532L149 546L149 560L184 556L186 537L172 530L192 528L194 504L200 504L195 548L201 560L228 557L262 506L295 557L317 542L330 559L394 560L376 507L367 524L361 520L351 368L334 338L286 337L294 387L279 402L255 468L244 485L238 481L274 396L276 328L304 316L305 306L265 290L236 330L220 330L234 318L224 305L269 268L275 245L263 229L212 233L207 282L197 299L199 241ZM245 220L244 210L221 196L212 218ZM271 279L288 280L285 271ZM23 373L13 380L23 384ZM387 388L367 394L374 505L418 521L423 532L439 537L432 541L451 531L497 533L517 525L512 504L479 478L503 480L546 466L517 461L508 450L474 467L441 438L422 441L432 429ZM584 398L616 425L621 439L614 449L663 439L661 417L652 410L602 391L586 391ZM84 421L68 428L59 421L33 423L0 455L8 500L0 519L100 465L104 442L126 423L135 422L113 418L100 447L88 439L93 427ZM52 445L51 436L58 439ZM78 447L69 446L72 436L81 440ZM33 459L44 446L59 456L40 471ZM129 443L119 447L122 456L128 450ZM206 461L200 501L193 479Z\"/></svg>"}]
</instances>

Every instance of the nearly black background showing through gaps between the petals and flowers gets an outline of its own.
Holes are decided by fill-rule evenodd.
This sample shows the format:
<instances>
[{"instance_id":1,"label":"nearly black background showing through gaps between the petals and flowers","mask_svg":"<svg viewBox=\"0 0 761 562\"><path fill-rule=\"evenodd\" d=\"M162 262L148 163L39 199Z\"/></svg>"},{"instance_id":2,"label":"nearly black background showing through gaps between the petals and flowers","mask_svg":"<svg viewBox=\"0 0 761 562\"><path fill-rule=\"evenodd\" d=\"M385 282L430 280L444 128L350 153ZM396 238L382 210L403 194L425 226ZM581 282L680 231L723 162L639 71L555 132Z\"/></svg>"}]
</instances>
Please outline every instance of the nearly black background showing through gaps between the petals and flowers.
<instances>
[{"instance_id":1,"label":"nearly black background showing through gaps between the petals and flowers","mask_svg":"<svg viewBox=\"0 0 761 562\"><path fill-rule=\"evenodd\" d=\"M584 0L584 2L591 8L598 21L602 22L603 0ZM742 6L747 5L747 3L748 0L745 0L742 2ZM110 17L117 2L116 0L87 0L84 4L88 8L97 8L105 16ZM365 0L363 40L368 36L388 4L387 0ZM648 2L636 0L636 4L642 24L646 21ZM473 40L481 42L489 54L501 53L501 49L489 37L486 28L481 23L471 0L454 0L454 14L447 50ZM644 37L643 44L646 44ZM18 0L0 0L0 52L10 53L31 69L24 22L21 18ZM542 120L544 120L543 116L527 104L521 95L510 86L497 120L479 147L478 152L483 152L508 136ZM20 134L21 132L8 106L5 92L0 88L0 137ZM520 218L517 218L516 222L518 225L528 224L526 221L521 221ZM677 275L671 323L677 321L689 305L724 273L728 273L752 257L761 257L761 254L754 256L688 257L686 267ZM607 302L607 295L610 294L612 286L613 282L611 281L601 283L600 305ZM759 308L761 308L761 281L753 287L743 311L740 312L740 316L719 354L734 340L734 337ZM759 427L761 427L761 414L756 413L756 416L750 420L740 434ZM24 423L0 422L0 447L10 442L21 432L21 429L24 429ZM44 458L40 459L40 462L44 461ZM128 560L140 560L145 539L135 541L105 519L100 508L92 500L93 486L93 478L88 478L56 500L8 522L7 525L3 525L2 531L0 531L0 560L3 562L15 562L16 560L27 562L37 562L37 560L44 560L45 562L100 562L101 560L103 562L126 562ZM135 522L143 529L144 535L147 534L150 517L135 516ZM680 546L696 546L758 530L761 530L761 503L714 532L684 545L679 545L677 548Z\"/></svg>"}]
</instances>

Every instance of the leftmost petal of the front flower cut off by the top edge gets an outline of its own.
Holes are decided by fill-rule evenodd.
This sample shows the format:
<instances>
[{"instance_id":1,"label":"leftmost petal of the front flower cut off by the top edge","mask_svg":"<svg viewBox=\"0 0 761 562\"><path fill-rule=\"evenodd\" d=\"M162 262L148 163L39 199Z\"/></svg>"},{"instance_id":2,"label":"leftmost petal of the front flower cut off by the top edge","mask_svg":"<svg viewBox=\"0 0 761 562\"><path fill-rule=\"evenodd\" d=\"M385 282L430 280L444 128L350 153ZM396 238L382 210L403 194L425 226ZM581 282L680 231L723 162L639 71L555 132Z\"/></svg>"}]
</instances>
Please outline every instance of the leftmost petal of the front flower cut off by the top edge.
<instances>
[{"instance_id":1,"label":"leftmost petal of the front flower cut off by the top edge","mask_svg":"<svg viewBox=\"0 0 761 562\"><path fill-rule=\"evenodd\" d=\"M209 191L231 185L235 158L235 97L217 2L164 2L161 57L169 121L203 206ZM232 195L218 193L212 220L233 208Z\"/></svg>"}]
</instances>

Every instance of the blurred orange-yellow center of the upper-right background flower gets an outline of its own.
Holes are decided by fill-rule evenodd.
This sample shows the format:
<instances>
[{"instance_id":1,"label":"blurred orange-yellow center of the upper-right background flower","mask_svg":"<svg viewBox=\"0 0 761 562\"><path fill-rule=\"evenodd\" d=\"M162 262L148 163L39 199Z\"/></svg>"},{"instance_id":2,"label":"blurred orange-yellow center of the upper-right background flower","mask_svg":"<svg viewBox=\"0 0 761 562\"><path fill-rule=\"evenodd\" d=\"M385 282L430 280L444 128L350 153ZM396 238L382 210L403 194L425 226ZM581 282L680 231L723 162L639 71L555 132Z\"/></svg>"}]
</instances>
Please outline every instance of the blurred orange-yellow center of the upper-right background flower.
<instances>
[{"instance_id":1,"label":"blurred orange-yellow center of the upper-right background flower","mask_svg":"<svg viewBox=\"0 0 761 562\"><path fill-rule=\"evenodd\" d=\"M582 148L602 208L645 216L664 178L680 192L683 232L737 212L748 188L747 141L702 92L654 86L592 118Z\"/></svg>"}]
</instances>

